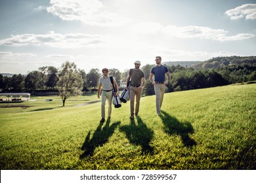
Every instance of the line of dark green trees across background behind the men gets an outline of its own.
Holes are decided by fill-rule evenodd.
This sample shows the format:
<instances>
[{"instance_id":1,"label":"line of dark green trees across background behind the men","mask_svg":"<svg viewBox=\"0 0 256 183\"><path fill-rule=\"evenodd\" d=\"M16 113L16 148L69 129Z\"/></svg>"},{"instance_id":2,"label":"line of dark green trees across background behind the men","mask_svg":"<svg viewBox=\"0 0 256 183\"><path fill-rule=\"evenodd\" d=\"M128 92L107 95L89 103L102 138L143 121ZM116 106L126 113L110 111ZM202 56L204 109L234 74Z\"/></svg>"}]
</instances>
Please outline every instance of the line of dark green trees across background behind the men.
<instances>
[{"instance_id":1,"label":"line of dark green trees across background behind the men","mask_svg":"<svg viewBox=\"0 0 256 183\"><path fill-rule=\"evenodd\" d=\"M167 85L166 92L194 90L256 80L255 56L213 58L192 67L170 65L170 63L166 65L171 73L171 82ZM70 71L67 70L67 67ZM144 71L146 78L142 95L154 95L154 88L149 80L152 67L154 65L147 64L140 68ZM70 61L63 63L59 69L53 66L39 67L37 71L32 71L28 75L19 74L9 77L0 74L0 90L1 92L57 92L60 91L60 80L68 75L64 71L70 72L70 76L76 75L75 80L79 80L81 92L97 90L101 71L93 68L89 73L85 73L83 69L77 69L75 63ZM125 86L124 82L128 72L129 69L120 72L113 68L110 69L109 74L116 78L117 84L122 88ZM64 76L64 74L66 75Z\"/></svg>"}]
</instances>

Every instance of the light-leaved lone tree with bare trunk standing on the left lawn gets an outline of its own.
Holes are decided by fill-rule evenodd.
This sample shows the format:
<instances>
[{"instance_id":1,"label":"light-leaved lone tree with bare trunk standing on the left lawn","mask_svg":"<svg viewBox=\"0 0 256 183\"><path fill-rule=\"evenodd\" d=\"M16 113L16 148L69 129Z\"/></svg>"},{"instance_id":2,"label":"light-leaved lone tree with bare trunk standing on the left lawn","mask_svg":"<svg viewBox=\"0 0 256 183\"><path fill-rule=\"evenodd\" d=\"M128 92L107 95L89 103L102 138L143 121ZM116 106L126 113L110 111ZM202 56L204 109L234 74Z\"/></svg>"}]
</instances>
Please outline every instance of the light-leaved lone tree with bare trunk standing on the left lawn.
<instances>
[{"instance_id":1,"label":"light-leaved lone tree with bare trunk standing on the left lawn","mask_svg":"<svg viewBox=\"0 0 256 183\"><path fill-rule=\"evenodd\" d=\"M68 97L81 95L83 80L74 62L70 63L70 61L66 61L66 63L62 64L58 74L57 87L62 97L62 106L65 105Z\"/></svg>"}]
</instances>

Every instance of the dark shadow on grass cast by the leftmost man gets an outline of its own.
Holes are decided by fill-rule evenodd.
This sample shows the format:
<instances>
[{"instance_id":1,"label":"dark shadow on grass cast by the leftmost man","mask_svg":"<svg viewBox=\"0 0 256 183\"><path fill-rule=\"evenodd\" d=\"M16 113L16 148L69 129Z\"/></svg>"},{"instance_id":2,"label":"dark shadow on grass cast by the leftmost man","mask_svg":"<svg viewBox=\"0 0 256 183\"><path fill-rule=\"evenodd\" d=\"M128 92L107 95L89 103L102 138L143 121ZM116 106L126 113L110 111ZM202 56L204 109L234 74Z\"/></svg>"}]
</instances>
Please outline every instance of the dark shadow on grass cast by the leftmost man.
<instances>
[{"instance_id":1,"label":"dark shadow on grass cast by the leftmost man","mask_svg":"<svg viewBox=\"0 0 256 183\"><path fill-rule=\"evenodd\" d=\"M83 142L83 146L81 150L85 150L83 154L81 154L80 158L85 158L86 156L92 156L93 152L95 152L96 147L102 146L108 139L113 135L116 127L120 125L120 122L115 122L110 126L110 119L106 121L106 124L100 123L96 128L95 133L93 133L93 137L90 139L91 131L87 134L85 138L85 142Z\"/></svg>"}]
</instances>

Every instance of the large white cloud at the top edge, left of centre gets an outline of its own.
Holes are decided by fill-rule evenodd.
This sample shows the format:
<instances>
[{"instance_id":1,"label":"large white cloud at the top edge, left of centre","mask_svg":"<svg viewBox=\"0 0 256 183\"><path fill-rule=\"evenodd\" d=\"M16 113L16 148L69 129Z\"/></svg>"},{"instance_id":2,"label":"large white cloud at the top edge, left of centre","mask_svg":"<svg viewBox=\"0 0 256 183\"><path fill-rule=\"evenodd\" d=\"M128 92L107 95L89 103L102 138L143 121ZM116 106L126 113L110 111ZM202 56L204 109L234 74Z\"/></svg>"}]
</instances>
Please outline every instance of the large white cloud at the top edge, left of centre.
<instances>
[{"instance_id":1,"label":"large white cloud at the top edge, left of centre","mask_svg":"<svg viewBox=\"0 0 256 183\"><path fill-rule=\"evenodd\" d=\"M131 21L114 12L105 10L98 0L51 0L47 12L62 20L77 20L87 25L115 27Z\"/></svg>"}]
</instances>

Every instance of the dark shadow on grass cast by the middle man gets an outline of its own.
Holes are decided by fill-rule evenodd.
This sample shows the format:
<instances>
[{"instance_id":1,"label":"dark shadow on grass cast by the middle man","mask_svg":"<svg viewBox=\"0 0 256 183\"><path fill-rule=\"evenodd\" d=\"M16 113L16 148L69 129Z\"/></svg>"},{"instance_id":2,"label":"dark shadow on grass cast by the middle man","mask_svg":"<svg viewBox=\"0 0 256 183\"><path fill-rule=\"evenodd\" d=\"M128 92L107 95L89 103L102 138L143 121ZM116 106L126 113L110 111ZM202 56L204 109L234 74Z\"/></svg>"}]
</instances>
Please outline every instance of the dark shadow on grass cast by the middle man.
<instances>
[{"instance_id":1,"label":"dark shadow on grass cast by the middle man","mask_svg":"<svg viewBox=\"0 0 256 183\"><path fill-rule=\"evenodd\" d=\"M131 120L131 125L123 125L119 127L129 139L130 143L142 147L142 154L152 154L153 148L150 146L154 131L144 124L139 116L136 116L138 125L135 120Z\"/></svg>"}]
</instances>

